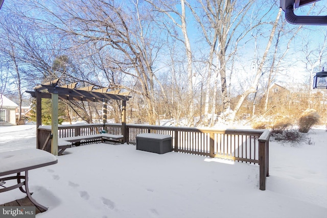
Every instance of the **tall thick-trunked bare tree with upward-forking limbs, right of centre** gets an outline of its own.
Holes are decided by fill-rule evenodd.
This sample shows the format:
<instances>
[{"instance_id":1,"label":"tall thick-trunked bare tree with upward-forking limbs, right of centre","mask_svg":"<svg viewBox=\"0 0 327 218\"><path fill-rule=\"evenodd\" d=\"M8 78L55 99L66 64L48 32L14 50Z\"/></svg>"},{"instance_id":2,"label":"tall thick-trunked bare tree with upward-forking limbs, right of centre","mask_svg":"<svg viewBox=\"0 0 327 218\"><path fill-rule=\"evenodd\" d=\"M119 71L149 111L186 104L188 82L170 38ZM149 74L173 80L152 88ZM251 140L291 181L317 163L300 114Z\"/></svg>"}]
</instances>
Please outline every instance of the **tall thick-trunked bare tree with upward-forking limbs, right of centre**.
<instances>
[{"instance_id":1,"label":"tall thick-trunked bare tree with upward-forking limbs, right of centre","mask_svg":"<svg viewBox=\"0 0 327 218\"><path fill-rule=\"evenodd\" d=\"M250 9L253 1L247 2L242 5L240 10L236 9L237 1L198 1L200 4L200 12L197 12L191 5L188 5L191 9L195 19L202 30L202 35L205 42L209 46L209 53L207 55L206 63L206 80L205 84L205 106L204 106L204 123L207 123L208 118L211 118L211 125L214 124L214 114L216 111L216 99L217 99L217 87L218 79L220 77L221 93L222 93L222 104L223 111L230 108L230 100L227 91L227 76L226 76L226 64L233 57L233 54L237 51L238 42L252 28L248 28L237 36L236 40L232 39L235 37L238 27L243 21L244 16ZM234 42L233 50L226 55L230 44ZM214 63L216 59L216 64ZM208 117L209 99L211 97L211 85L214 85L214 93L212 96L212 115Z\"/></svg>"}]
</instances>

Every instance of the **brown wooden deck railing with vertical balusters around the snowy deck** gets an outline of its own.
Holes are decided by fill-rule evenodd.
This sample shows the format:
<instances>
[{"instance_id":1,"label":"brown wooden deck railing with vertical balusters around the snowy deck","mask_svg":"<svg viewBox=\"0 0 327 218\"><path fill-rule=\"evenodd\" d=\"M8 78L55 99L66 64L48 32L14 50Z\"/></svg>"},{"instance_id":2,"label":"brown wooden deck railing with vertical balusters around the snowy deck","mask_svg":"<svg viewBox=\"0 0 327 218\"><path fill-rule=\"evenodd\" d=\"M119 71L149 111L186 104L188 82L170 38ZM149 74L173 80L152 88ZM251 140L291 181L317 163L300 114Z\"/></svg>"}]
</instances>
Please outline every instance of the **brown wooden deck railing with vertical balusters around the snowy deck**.
<instances>
[{"instance_id":1,"label":"brown wooden deck railing with vertical balusters around the snowy deck","mask_svg":"<svg viewBox=\"0 0 327 218\"><path fill-rule=\"evenodd\" d=\"M259 164L260 189L266 188L266 177L269 176L269 130L213 130L135 124L127 124L126 128L126 141L129 144L136 144L136 135L141 133L166 134L172 136L175 152ZM59 138L93 135L103 130L109 134L121 135L122 125L61 125L58 126L58 135ZM39 127L37 131L38 148L44 147L44 150L50 152L51 140L46 142L46 139L51 134L51 127Z\"/></svg>"}]
</instances>

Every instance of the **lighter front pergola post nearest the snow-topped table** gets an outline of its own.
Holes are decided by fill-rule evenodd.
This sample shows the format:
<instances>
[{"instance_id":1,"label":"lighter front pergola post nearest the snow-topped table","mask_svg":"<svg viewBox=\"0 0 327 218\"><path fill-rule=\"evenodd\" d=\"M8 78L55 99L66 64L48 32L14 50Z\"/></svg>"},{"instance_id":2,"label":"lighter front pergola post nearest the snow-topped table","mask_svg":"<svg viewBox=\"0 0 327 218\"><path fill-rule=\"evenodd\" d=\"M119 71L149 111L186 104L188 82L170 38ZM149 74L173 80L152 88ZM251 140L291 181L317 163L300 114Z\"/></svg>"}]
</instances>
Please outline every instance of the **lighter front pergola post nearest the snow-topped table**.
<instances>
[{"instance_id":1,"label":"lighter front pergola post nearest the snow-topped table","mask_svg":"<svg viewBox=\"0 0 327 218\"><path fill-rule=\"evenodd\" d=\"M58 155L58 94L51 94L52 112L51 112L51 154Z\"/></svg>"}]
</instances>

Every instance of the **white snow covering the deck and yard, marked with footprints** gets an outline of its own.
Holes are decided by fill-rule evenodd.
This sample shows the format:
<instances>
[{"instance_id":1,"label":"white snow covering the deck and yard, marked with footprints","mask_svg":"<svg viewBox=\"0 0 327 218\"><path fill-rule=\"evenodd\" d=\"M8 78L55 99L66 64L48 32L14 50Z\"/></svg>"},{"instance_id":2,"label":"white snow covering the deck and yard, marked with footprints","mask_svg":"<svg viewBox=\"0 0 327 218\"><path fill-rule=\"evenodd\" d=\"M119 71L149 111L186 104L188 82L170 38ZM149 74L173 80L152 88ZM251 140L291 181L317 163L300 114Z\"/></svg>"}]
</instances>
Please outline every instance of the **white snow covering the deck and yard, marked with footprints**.
<instances>
[{"instance_id":1,"label":"white snow covering the deck and yard, marked with footprints","mask_svg":"<svg viewBox=\"0 0 327 218\"><path fill-rule=\"evenodd\" d=\"M35 148L34 125L0 127L0 152L23 148ZM29 184L49 207L38 218L326 217L326 130L301 143L272 141L269 154L265 191L257 165L103 143L66 150L30 171ZM24 197L0 193L0 204Z\"/></svg>"}]
</instances>

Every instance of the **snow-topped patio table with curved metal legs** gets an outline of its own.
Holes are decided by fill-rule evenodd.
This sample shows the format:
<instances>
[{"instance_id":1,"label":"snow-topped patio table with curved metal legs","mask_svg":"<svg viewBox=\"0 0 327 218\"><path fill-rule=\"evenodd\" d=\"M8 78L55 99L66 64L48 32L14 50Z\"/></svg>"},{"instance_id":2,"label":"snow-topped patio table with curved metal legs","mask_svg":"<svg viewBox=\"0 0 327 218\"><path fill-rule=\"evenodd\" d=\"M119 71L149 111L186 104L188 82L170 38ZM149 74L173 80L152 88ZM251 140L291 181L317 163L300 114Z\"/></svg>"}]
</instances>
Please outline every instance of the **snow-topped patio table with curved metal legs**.
<instances>
[{"instance_id":1,"label":"snow-topped patio table with curved metal legs","mask_svg":"<svg viewBox=\"0 0 327 218\"><path fill-rule=\"evenodd\" d=\"M19 188L26 193L30 201L39 208L40 211L46 211L48 208L37 203L32 198L32 193L28 186L28 172L31 169L48 166L57 163L57 158L45 151L39 149L22 149L0 153L0 193ZM25 175L21 175L25 172ZM16 174L12 176L11 174ZM6 187L7 180L17 180L17 184ZM24 181L21 181L24 180ZM25 185L25 190L22 186Z\"/></svg>"}]
</instances>

